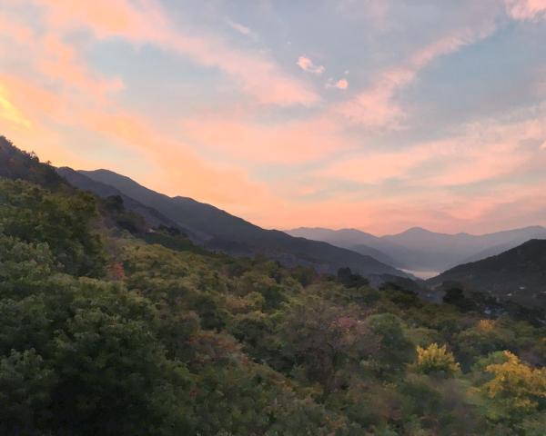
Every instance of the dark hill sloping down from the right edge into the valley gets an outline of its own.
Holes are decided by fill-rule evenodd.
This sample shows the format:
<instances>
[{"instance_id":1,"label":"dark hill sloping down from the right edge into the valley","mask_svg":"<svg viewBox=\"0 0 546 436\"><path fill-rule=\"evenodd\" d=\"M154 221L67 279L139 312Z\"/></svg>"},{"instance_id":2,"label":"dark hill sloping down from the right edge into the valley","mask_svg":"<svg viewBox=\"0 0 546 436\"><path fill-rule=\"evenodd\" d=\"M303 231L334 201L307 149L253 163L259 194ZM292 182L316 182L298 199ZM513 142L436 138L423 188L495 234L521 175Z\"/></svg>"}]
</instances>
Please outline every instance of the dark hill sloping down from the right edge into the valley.
<instances>
[{"instance_id":1,"label":"dark hill sloping down from the right edge into the valley","mask_svg":"<svg viewBox=\"0 0 546 436\"><path fill-rule=\"evenodd\" d=\"M459 282L470 291L545 308L546 241L533 239L496 256L456 266L427 284L439 288L445 282Z\"/></svg>"}]
</instances>

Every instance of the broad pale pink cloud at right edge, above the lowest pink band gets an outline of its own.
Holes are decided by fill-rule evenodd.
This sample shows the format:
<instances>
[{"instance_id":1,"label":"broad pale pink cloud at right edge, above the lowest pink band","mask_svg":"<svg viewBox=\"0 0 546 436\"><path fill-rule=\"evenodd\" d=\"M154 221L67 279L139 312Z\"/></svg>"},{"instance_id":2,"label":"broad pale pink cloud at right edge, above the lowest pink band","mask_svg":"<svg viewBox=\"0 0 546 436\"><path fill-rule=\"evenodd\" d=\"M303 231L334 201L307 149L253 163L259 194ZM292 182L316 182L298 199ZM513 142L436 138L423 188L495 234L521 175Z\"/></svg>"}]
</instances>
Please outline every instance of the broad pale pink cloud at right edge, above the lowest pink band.
<instances>
[{"instance_id":1,"label":"broad pale pink cloud at right edge, above the lowest pink band","mask_svg":"<svg viewBox=\"0 0 546 436\"><path fill-rule=\"evenodd\" d=\"M452 138L399 150L369 150L332 163L317 175L371 184L398 179L406 186L420 187L510 177L537 158L535 149L521 144L541 144L546 138L546 106L536 108L533 116L527 121L468 124Z\"/></svg>"}]
</instances>

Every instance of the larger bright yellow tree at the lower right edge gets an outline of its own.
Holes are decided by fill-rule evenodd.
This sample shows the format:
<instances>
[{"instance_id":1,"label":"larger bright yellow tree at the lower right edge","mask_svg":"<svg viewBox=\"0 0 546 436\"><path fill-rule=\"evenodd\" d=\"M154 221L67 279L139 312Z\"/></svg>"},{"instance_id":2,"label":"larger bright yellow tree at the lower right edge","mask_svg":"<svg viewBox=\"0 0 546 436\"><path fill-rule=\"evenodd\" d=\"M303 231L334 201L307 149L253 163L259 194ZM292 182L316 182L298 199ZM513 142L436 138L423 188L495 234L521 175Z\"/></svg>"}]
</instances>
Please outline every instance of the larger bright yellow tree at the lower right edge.
<instances>
[{"instance_id":1,"label":"larger bright yellow tree at the lower right edge","mask_svg":"<svg viewBox=\"0 0 546 436\"><path fill-rule=\"evenodd\" d=\"M510 416L518 420L522 415L536 411L546 400L546 369L531 368L518 356L504 352L506 362L488 365L485 370L494 378L482 390L493 401L490 418Z\"/></svg>"}]
</instances>

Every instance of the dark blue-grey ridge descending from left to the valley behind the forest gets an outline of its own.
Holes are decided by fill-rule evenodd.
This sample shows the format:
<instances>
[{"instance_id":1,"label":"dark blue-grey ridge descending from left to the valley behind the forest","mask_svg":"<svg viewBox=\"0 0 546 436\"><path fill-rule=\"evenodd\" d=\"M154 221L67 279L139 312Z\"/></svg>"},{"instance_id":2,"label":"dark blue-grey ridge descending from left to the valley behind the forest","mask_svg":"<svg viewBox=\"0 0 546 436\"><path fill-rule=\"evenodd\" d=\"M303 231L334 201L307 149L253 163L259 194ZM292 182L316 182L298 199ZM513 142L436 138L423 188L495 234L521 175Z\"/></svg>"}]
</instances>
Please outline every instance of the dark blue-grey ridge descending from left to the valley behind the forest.
<instances>
[{"instance_id":1,"label":"dark blue-grey ridge descending from left to the valley behind the forest","mask_svg":"<svg viewBox=\"0 0 546 436\"><path fill-rule=\"evenodd\" d=\"M59 171L69 173L66 169ZM265 230L210 204L187 197L169 197L111 171L77 173L86 177L77 178L72 174L70 181L77 187L103 196L114 192L111 191L113 188L136 202L127 202L128 209L136 207L135 204L154 209L177 226L187 229L195 236L197 243L211 250L234 255L263 254L284 264L305 264L321 272L337 272L339 268L349 266L354 272L369 277L381 274L408 276L369 255L351 252L329 243L295 238L276 230ZM89 183L86 179L99 184Z\"/></svg>"}]
</instances>

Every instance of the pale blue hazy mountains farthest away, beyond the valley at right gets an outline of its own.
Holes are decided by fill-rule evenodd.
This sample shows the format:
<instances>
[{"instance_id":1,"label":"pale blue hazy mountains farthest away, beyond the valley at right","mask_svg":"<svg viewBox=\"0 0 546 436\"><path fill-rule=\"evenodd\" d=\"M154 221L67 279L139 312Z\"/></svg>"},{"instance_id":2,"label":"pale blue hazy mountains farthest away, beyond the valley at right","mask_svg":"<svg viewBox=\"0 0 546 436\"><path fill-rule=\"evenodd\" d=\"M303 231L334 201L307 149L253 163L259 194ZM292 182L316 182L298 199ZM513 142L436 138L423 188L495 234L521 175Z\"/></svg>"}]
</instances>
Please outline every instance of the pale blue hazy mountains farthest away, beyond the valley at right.
<instances>
[{"instance_id":1,"label":"pale blue hazy mountains farthest away, beyond the valley at right","mask_svg":"<svg viewBox=\"0 0 546 436\"><path fill-rule=\"evenodd\" d=\"M382 260L414 272L442 272L454 265L479 260L520 245L530 239L544 239L546 228L525 227L499 233L473 235L469 233L434 233L413 227L405 232L387 236L374 236L359 230L299 228L288 234L308 239L326 241L359 253L378 250Z\"/></svg>"}]
</instances>

